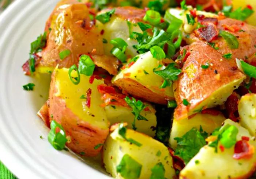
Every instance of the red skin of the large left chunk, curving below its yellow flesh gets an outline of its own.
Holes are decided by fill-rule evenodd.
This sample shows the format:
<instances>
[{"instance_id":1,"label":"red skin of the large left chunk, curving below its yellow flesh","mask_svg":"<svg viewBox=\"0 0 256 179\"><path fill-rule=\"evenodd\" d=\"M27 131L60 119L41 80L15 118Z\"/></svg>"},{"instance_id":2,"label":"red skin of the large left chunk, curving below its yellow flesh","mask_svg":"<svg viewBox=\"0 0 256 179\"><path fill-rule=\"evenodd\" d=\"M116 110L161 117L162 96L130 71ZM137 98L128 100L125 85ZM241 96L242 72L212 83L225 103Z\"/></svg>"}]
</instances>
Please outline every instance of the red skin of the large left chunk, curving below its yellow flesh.
<instances>
[{"instance_id":1,"label":"red skin of the large left chunk, curving below its yellow flesh","mask_svg":"<svg viewBox=\"0 0 256 179\"><path fill-rule=\"evenodd\" d=\"M59 122L66 135L70 136L71 141L66 143L67 147L80 155L84 152L84 156L97 156L102 147L98 149L94 147L105 142L109 129L100 129L81 120L71 109L67 108L61 97L55 96L56 92L54 72L49 91L49 115L52 114L53 120Z\"/></svg>"}]
</instances>

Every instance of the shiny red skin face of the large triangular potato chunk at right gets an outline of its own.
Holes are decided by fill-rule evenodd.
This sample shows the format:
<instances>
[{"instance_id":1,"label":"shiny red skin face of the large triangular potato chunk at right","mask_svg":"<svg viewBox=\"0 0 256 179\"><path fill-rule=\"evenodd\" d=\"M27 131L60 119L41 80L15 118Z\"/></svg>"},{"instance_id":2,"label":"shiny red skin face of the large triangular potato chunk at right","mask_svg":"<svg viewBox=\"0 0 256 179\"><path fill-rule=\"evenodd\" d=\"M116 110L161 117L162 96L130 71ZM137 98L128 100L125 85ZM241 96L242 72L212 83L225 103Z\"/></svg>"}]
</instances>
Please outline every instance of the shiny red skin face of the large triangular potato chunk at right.
<instances>
[{"instance_id":1,"label":"shiny red skin face of the large triangular potato chunk at right","mask_svg":"<svg viewBox=\"0 0 256 179\"><path fill-rule=\"evenodd\" d=\"M185 61L181 69L182 73L173 86L178 105L174 112L174 117L177 120L188 117L188 111L193 111L223 85L244 77L244 74L237 69L233 59L221 61L222 55L204 42L192 43L188 52L191 54ZM205 63L212 63L212 66L202 69L201 65ZM188 69L191 67L193 67L192 74L189 74ZM190 105L185 106L182 103L184 99Z\"/></svg>"}]
</instances>

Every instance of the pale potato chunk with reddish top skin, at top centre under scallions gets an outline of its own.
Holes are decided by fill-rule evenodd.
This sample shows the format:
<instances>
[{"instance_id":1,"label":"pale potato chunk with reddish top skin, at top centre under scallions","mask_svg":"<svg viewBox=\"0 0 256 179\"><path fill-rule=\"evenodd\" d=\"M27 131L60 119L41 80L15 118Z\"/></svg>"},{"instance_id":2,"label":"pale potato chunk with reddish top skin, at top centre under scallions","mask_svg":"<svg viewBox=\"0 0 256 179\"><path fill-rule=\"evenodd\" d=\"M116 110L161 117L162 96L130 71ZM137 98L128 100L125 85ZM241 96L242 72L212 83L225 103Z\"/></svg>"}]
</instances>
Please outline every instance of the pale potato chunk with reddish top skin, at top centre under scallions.
<instances>
[{"instance_id":1,"label":"pale potato chunk with reddish top skin, at top centre under scallions","mask_svg":"<svg viewBox=\"0 0 256 179\"><path fill-rule=\"evenodd\" d=\"M139 26L133 26L132 23L141 22L146 11L135 7L117 7L115 9L115 13L112 15L109 22L105 24L102 24L98 20L96 22L96 26L103 33L102 38L106 39L107 42L104 44L105 54L112 55L110 51L113 45L110 44L110 40L121 38L128 44L125 54L130 58L134 57L138 53L132 46L136 45L138 42L135 39L129 38L129 31L142 33ZM110 9L105 9L99 12L99 14L109 10ZM131 23L130 27L128 26L128 22Z\"/></svg>"}]
</instances>

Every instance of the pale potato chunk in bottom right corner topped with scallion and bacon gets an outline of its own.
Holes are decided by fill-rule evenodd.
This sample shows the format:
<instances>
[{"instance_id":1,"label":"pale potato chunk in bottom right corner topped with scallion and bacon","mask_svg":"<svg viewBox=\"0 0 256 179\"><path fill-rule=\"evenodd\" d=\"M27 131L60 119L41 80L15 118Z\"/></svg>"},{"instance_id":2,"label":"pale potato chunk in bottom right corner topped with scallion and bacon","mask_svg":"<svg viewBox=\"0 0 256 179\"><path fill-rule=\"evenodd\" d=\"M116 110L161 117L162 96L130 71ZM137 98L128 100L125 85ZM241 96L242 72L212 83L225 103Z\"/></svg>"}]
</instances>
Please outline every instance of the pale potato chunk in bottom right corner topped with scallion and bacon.
<instances>
[{"instance_id":1,"label":"pale potato chunk in bottom right corner topped with scallion and bacon","mask_svg":"<svg viewBox=\"0 0 256 179\"><path fill-rule=\"evenodd\" d=\"M249 137L249 144L254 150L256 142L245 128L229 119L223 126L227 124L238 128L237 140L242 136ZM252 175L256 168L256 153L253 151L253 156L248 159L234 159L233 154L234 146L224 151L218 146L218 152L215 152L215 148L206 145L181 170L180 179L246 179Z\"/></svg>"}]
</instances>

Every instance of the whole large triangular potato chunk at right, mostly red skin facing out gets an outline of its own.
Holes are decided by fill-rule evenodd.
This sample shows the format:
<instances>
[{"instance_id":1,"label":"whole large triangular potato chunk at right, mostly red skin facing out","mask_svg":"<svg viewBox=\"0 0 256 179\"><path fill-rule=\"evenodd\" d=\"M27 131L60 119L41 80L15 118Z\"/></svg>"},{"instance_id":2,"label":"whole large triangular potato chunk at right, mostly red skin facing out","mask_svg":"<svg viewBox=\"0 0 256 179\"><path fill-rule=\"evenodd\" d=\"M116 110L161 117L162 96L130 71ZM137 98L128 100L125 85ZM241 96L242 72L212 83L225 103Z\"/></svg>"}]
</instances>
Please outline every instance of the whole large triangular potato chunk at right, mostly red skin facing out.
<instances>
[{"instance_id":1,"label":"whole large triangular potato chunk at right, mostly red skin facing out","mask_svg":"<svg viewBox=\"0 0 256 179\"><path fill-rule=\"evenodd\" d=\"M173 84L178 105L174 112L176 120L222 105L245 79L234 60L223 59L206 43L192 43L187 53L190 55L182 67L182 74ZM202 65L206 64L207 69L203 69Z\"/></svg>"}]
</instances>

